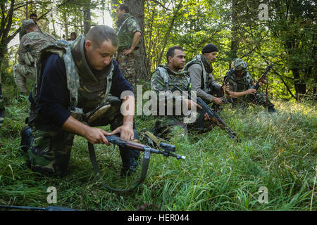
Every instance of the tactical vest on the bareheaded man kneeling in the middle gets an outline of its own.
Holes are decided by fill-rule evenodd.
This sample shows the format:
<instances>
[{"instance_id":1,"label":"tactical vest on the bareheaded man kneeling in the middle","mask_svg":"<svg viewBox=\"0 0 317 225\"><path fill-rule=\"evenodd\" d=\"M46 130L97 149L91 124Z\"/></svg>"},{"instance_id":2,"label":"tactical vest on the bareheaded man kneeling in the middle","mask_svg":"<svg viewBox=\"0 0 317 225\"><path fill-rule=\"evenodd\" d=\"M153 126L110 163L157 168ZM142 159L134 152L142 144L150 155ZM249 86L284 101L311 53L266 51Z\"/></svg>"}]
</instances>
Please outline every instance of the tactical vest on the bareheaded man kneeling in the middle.
<instances>
[{"instance_id":1,"label":"tactical vest on the bareheaded man kneeling in the middle","mask_svg":"<svg viewBox=\"0 0 317 225\"><path fill-rule=\"evenodd\" d=\"M163 77L166 91L173 89L173 86L177 85L183 91L190 91L192 85L190 82L190 77L187 72L174 72L171 71L168 66L159 65L156 70L159 70L161 77ZM175 76L170 76L168 70ZM154 71L155 72L155 71ZM185 78L185 79L184 79Z\"/></svg>"}]
</instances>

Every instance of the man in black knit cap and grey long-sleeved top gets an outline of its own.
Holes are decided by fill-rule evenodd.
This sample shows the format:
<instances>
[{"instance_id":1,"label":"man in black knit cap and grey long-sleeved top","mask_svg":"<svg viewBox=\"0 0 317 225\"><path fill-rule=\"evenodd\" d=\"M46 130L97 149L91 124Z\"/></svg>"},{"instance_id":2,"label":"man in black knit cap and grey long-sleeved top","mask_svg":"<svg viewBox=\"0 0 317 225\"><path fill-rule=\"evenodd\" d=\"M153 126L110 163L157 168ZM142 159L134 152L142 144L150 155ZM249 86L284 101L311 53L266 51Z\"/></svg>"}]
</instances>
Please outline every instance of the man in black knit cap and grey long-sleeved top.
<instances>
[{"instance_id":1,"label":"man in black knit cap and grey long-sleeved top","mask_svg":"<svg viewBox=\"0 0 317 225\"><path fill-rule=\"evenodd\" d=\"M201 50L201 54L195 56L185 65L192 79L192 90L197 91L197 96L206 103L214 102L217 105L223 103L222 98L214 96L220 94L221 85L213 78L213 63L216 60L218 49L213 44L206 44Z\"/></svg>"}]
</instances>

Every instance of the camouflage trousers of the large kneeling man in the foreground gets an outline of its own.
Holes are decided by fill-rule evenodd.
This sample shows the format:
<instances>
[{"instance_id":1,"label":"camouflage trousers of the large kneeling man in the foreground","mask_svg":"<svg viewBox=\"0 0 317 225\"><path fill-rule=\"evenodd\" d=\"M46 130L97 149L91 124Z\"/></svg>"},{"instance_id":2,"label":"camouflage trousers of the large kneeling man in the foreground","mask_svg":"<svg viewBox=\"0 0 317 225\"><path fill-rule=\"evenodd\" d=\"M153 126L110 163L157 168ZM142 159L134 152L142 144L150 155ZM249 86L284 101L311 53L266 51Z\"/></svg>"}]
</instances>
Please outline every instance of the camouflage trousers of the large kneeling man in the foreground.
<instances>
[{"instance_id":1,"label":"camouflage trousers of the large kneeling man in the foreground","mask_svg":"<svg viewBox=\"0 0 317 225\"><path fill-rule=\"evenodd\" d=\"M119 127L122 122L123 116L120 113L120 104L111 104L111 108L89 126L97 127L111 124L111 130L113 130ZM137 131L134 131L135 139L138 139ZM27 151L31 169L36 172L64 176L68 171L74 134L39 122L35 122L35 125L32 126L32 133L34 137L33 145ZM123 168L129 169L137 164L139 158L137 150L120 147L120 155Z\"/></svg>"}]
</instances>

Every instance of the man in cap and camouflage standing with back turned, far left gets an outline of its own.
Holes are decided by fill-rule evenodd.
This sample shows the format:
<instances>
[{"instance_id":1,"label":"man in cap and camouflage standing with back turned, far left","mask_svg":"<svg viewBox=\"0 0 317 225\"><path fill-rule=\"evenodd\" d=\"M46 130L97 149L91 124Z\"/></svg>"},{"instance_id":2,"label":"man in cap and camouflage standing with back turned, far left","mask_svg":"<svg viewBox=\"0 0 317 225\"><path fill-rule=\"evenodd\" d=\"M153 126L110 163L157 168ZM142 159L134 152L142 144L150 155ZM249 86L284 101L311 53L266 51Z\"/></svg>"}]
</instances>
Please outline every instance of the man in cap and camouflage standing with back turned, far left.
<instances>
[{"instance_id":1,"label":"man in cap and camouflage standing with back turned, far left","mask_svg":"<svg viewBox=\"0 0 317 225\"><path fill-rule=\"evenodd\" d=\"M22 94L27 91L27 79L35 80L35 60L39 51L57 40L51 34L39 31L33 20L23 20L22 29L26 34L20 40L18 63L13 67L15 84Z\"/></svg>"}]
</instances>

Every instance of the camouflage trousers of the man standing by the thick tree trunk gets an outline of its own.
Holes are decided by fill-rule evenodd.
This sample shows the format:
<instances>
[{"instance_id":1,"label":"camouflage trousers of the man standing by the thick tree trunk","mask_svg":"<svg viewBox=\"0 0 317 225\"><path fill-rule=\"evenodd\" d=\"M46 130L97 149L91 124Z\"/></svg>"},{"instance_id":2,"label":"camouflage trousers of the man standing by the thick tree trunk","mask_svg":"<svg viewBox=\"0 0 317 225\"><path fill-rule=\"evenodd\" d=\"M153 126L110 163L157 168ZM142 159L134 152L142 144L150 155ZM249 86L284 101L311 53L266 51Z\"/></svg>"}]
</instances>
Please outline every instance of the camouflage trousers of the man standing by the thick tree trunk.
<instances>
[{"instance_id":1,"label":"camouflage trousers of the man standing by the thick tree trunk","mask_svg":"<svg viewBox=\"0 0 317 225\"><path fill-rule=\"evenodd\" d=\"M137 77L135 72L135 55L134 53L128 54L128 56L123 55L123 51L118 51L117 60L119 63L120 70L123 74L123 77L128 80L128 82L135 89L137 83Z\"/></svg>"}]
</instances>

